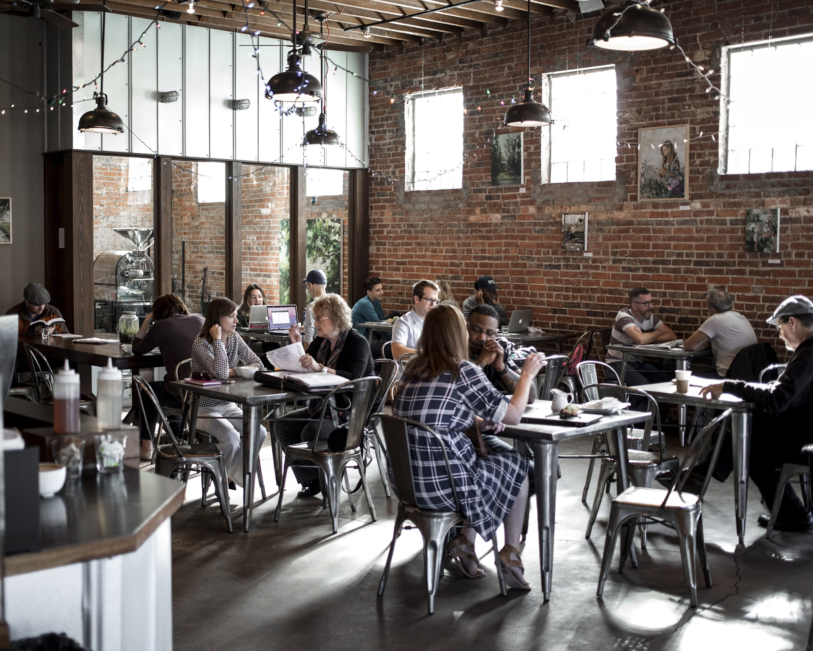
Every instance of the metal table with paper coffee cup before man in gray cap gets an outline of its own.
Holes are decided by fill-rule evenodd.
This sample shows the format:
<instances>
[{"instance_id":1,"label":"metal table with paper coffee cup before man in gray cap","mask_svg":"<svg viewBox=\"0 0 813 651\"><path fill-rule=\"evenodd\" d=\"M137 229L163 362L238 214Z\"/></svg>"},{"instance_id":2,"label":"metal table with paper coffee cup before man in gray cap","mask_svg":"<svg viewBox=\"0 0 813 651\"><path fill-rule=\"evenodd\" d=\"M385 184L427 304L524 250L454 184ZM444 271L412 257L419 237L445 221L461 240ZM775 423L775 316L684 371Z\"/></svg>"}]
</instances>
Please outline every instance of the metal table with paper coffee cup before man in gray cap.
<instances>
[{"instance_id":1,"label":"metal table with paper coffee cup before man in gray cap","mask_svg":"<svg viewBox=\"0 0 813 651\"><path fill-rule=\"evenodd\" d=\"M745 402L736 395L724 393L717 400L706 400L700 396L702 387L716 384L720 380L692 378L688 393L678 393L677 386L672 382L659 382L645 384L641 391L646 391L658 402L677 404L685 413L687 405L695 409L733 409L731 415L731 447L734 457L734 511L737 521L737 536L740 544L744 544L746 536L746 510L748 509L748 463L751 449L751 422L754 403Z\"/></svg>"}]
</instances>

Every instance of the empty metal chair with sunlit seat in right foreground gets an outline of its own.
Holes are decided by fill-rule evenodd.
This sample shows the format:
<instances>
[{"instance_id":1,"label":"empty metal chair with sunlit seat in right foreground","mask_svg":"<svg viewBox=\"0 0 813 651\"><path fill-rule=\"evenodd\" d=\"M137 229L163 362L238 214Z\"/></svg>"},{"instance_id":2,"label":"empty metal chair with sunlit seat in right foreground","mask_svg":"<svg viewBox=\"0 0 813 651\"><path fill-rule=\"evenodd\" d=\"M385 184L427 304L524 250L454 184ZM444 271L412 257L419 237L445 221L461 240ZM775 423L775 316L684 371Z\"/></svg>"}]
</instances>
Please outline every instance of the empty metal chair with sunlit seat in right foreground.
<instances>
[{"instance_id":1,"label":"empty metal chair with sunlit seat in right foreground","mask_svg":"<svg viewBox=\"0 0 813 651\"><path fill-rule=\"evenodd\" d=\"M633 486L612 501L610 520L607 523L604 554L602 556L602 570L598 576L597 596L602 596L604 592L604 583L606 583L607 576L610 574L610 564L619 532L622 529L624 530L621 536L621 561L619 566L619 574L624 574L624 562L633 547L633 536L629 527L641 524L641 520L648 524L665 524L676 531L680 544L680 557L683 561L683 571L686 583L689 585L689 599L693 607L698 605L698 585L695 570L695 558L698 552L702 562L703 575L706 579L706 587L711 588L711 570L709 569L706 554L706 541L703 538L701 505L717 457L720 455L720 446L724 439L723 433L731 412L731 409L726 409L720 416L706 425L693 440L688 452L686 452L683 463L680 465L680 471L675 474L672 485L668 490ZM715 430L719 430L719 433L712 447L711 441ZM685 491L684 488L690 474L692 474L699 461L709 457L708 451L710 449L711 458L699 495Z\"/></svg>"}]
</instances>

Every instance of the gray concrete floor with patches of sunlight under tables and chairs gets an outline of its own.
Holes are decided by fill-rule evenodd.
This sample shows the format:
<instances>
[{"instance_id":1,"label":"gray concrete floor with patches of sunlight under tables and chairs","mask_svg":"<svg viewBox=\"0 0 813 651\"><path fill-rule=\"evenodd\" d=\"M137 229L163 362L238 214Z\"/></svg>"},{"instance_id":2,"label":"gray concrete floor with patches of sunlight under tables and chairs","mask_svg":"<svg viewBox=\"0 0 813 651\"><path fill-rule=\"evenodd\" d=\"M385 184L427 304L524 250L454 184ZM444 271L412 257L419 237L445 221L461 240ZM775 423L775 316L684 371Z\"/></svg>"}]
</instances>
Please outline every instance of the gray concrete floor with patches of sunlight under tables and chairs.
<instances>
[{"instance_id":1,"label":"gray concrete floor with patches of sunlight under tables and chairs","mask_svg":"<svg viewBox=\"0 0 813 651\"><path fill-rule=\"evenodd\" d=\"M561 453L589 453L589 444L566 443ZM262 457L273 493L270 448ZM276 493L270 494L255 509L250 534L237 518L231 535L216 504L200 507L194 479L172 522L175 649L805 648L813 534L765 540L756 525L764 507L751 484L746 548L737 548L730 478L713 481L703 505L714 587L705 588L699 572L697 609L689 606L676 536L665 527L650 527L646 552L636 539L639 567L619 575L615 562L604 598L597 599L610 502L604 500L593 539L585 540L589 509L580 497L586 465L561 462L550 603L542 603L533 509L523 555L533 591L500 596L491 556L483 561L489 575L480 580L447 564L431 617L418 531L404 531L398 540L385 596L376 596L397 502L386 499L375 464L368 478L378 521L371 521L366 503L352 513L343 495L337 535L320 500L296 499L293 474L280 522L274 522ZM233 506L241 499L240 491L231 492ZM477 551L487 553L489 545L478 539Z\"/></svg>"}]
</instances>

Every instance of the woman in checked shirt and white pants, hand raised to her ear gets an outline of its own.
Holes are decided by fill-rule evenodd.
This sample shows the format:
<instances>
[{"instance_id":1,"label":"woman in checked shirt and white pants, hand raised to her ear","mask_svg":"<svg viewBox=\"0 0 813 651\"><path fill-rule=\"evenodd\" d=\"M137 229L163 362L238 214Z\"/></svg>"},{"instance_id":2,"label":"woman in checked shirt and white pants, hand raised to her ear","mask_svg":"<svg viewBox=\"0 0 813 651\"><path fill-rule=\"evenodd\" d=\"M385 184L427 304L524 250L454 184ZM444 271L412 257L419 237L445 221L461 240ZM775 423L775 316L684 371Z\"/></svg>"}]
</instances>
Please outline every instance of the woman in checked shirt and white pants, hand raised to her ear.
<instances>
[{"instance_id":1,"label":"woman in checked shirt and white pants, hand raised to her ear","mask_svg":"<svg viewBox=\"0 0 813 651\"><path fill-rule=\"evenodd\" d=\"M237 304L230 299L212 299L206 310L206 321L192 346L192 372L208 374L215 380L228 380L237 375L240 366L262 366L259 357L248 347L237 330ZM233 402L201 396L198 429L217 439L223 453L228 478L243 485L243 454L240 435L243 410ZM260 427L256 449L265 440Z\"/></svg>"}]
</instances>

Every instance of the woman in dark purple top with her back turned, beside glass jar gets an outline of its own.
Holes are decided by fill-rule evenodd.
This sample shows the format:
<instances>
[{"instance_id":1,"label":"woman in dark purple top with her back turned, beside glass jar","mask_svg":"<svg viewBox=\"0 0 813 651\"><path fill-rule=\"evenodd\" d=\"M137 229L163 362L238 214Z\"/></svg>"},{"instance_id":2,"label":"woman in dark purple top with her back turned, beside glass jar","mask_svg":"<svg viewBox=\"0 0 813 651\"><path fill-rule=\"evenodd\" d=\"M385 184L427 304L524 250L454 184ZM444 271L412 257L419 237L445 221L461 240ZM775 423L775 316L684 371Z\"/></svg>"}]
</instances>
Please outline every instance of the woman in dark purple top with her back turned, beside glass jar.
<instances>
[{"instance_id":1,"label":"woman in dark purple top with her back turned, beside glass jar","mask_svg":"<svg viewBox=\"0 0 813 651\"><path fill-rule=\"evenodd\" d=\"M190 315L184 302L174 294L164 294L155 299L153 311L141 322L141 328L133 342L133 353L144 355L155 347L161 351L167 374L163 381L150 382L150 387L155 391L159 404L163 407L176 409L181 407L180 393L177 389L167 387L165 382L178 379L175 377L175 367L180 361L192 356L192 343L198 337L202 323L203 317L199 314ZM187 371L183 377L189 377L189 372ZM158 412L149 400L144 403L144 411L147 422L141 423L141 461L150 461L152 457L150 431L155 431Z\"/></svg>"}]
</instances>

